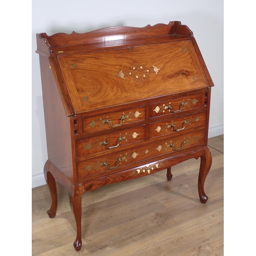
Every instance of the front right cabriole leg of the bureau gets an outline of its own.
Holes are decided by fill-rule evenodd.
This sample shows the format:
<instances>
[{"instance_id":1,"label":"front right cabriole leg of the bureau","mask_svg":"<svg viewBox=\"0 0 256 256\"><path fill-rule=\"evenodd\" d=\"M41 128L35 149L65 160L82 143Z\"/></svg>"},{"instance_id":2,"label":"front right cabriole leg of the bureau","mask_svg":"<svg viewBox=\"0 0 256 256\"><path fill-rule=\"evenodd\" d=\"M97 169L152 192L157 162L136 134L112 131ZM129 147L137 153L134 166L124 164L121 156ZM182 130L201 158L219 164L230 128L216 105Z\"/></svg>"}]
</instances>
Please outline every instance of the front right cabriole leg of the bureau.
<instances>
[{"instance_id":1,"label":"front right cabriole leg of the bureau","mask_svg":"<svg viewBox=\"0 0 256 256\"><path fill-rule=\"evenodd\" d=\"M208 147L204 148L204 155L201 156L201 163L199 169L199 176L198 176L198 194L201 203L205 204L208 200L208 197L204 193L204 182L209 173L210 166L212 162L211 153Z\"/></svg>"}]
</instances>

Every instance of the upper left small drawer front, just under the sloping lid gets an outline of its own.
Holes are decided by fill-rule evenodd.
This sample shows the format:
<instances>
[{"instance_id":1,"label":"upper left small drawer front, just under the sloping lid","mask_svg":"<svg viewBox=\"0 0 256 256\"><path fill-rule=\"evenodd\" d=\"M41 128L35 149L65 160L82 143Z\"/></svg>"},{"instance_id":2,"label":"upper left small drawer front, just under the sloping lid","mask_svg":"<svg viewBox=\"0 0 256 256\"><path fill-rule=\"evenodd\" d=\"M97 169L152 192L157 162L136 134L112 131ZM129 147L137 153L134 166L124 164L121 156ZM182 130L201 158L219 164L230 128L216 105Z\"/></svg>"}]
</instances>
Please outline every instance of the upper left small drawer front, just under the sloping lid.
<instances>
[{"instance_id":1,"label":"upper left small drawer front, just under the sloping lid","mask_svg":"<svg viewBox=\"0 0 256 256\"><path fill-rule=\"evenodd\" d=\"M145 106L123 110L94 117L83 117L83 134L106 131L113 127L123 127L125 124L145 120Z\"/></svg>"}]
</instances>

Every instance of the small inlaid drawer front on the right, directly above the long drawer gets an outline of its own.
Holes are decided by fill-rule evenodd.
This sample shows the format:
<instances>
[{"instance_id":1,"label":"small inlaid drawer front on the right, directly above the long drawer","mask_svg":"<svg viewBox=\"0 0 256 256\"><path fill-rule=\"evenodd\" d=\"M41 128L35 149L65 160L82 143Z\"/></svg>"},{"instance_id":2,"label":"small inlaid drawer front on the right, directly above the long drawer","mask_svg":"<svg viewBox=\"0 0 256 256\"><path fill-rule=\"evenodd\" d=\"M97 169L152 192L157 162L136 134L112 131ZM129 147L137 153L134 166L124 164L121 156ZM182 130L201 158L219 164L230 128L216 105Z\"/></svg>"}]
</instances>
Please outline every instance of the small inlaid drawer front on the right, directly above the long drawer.
<instances>
[{"instance_id":1,"label":"small inlaid drawer front on the right, directly above the long drawer","mask_svg":"<svg viewBox=\"0 0 256 256\"><path fill-rule=\"evenodd\" d=\"M187 131L195 127L204 127L206 123L206 112L170 118L168 120L150 124L150 138L175 134L179 131Z\"/></svg>"}]
</instances>

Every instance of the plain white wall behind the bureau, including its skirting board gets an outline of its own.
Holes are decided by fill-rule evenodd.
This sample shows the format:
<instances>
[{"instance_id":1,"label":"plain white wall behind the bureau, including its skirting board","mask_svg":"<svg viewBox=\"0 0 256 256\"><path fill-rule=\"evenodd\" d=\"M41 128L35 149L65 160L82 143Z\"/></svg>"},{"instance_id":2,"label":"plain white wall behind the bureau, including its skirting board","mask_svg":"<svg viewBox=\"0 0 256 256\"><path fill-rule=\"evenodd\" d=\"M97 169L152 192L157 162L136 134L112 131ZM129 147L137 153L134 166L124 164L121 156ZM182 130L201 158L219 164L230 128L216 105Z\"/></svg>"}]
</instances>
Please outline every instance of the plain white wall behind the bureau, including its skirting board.
<instances>
[{"instance_id":1,"label":"plain white wall behind the bureau, including its skirting board","mask_svg":"<svg viewBox=\"0 0 256 256\"><path fill-rule=\"evenodd\" d=\"M215 87L211 93L209 137L224 133L223 0L32 0L32 187L45 184L47 160L36 33L88 32L112 27L144 27L179 20L193 31Z\"/></svg>"}]
</instances>

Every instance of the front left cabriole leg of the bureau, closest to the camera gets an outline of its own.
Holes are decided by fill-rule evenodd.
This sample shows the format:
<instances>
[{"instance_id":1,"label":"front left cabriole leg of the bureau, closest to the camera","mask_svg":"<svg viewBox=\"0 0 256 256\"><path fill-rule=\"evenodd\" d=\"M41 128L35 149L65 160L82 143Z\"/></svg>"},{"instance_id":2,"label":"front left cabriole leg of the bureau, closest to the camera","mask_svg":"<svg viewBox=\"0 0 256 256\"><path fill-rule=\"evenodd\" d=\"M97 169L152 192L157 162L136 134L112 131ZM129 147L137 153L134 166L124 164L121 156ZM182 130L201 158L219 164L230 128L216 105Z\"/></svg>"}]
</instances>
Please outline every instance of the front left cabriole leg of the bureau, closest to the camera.
<instances>
[{"instance_id":1,"label":"front left cabriole leg of the bureau, closest to the camera","mask_svg":"<svg viewBox=\"0 0 256 256\"><path fill-rule=\"evenodd\" d=\"M79 251L82 246L82 239L81 239L82 194L80 193L78 186L74 186L73 191L69 194L69 201L70 201L71 210L73 211L75 220L76 220L76 240L73 245L76 251Z\"/></svg>"}]
</instances>

